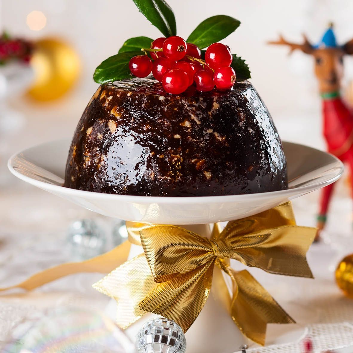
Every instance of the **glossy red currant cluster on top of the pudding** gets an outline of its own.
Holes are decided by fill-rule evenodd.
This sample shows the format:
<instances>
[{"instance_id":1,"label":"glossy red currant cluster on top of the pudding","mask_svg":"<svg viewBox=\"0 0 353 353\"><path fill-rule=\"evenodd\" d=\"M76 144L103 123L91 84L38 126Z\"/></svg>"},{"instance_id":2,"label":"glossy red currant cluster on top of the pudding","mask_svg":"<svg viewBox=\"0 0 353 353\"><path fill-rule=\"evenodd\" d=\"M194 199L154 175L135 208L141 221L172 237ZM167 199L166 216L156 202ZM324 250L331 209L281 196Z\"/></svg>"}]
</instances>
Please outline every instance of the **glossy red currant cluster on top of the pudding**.
<instances>
[{"instance_id":1,"label":"glossy red currant cluster on top of the pudding","mask_svg":"<svg viewBox=\"0 0 353 353\"><path fill-rule=\"evenodd\" d=\"M229 47L222 43L211 44L205 60L201 59L201 50L195 44L186 43L178 36L157 38L151 48L141 50L146 55L137 55L130 60L131 73L146 77L152 72L169 93L179 94L194 83L202 92L211 91L215 86L228 90L234 85L235 71L229 66L233 57Z\"/></svg>"}]
</instances>

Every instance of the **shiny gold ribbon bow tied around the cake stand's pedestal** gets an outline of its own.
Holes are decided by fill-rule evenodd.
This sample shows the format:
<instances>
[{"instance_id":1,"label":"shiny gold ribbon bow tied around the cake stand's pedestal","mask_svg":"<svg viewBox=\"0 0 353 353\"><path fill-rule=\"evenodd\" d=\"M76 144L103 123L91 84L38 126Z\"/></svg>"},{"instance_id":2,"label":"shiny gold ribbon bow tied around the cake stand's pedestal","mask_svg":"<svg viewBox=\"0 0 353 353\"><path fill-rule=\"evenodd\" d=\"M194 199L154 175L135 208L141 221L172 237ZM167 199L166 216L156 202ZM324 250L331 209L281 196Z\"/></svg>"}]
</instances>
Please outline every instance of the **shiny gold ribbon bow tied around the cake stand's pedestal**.
<instances>
[{"instance_id":1,"label":"shiny gold ribbon bow tied around the cake stand's pedestal","mask_svg":"<svg viewBox=\"0 0 353 353\"><path fill-rule=\"evenodd\" d=\"M312 278L305 255L316 229L297 226L290 203L228 222L223 231L216 224L211 239L177 226L127 227L135 244L139 233L144 253L94 285L116 299L120 327L152 312L187 331L208 298L215 265L232 280L232 297L225 283L221 287L233 321L251 340L264 345L268 323L294 323L248 271L229 265L235 259L274 274Z\"/></svg>"}]
</instances>

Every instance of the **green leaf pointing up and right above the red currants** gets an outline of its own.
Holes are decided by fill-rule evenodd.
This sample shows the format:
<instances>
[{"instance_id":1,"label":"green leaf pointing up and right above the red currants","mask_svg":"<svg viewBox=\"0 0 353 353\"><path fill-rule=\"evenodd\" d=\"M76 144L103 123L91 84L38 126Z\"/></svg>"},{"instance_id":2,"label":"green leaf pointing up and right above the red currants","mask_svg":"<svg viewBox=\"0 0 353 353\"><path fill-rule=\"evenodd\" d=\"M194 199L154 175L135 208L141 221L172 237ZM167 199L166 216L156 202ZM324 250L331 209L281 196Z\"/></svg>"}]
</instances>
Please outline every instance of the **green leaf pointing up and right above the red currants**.
<instances>
[{"instance_id":1,"label":"green leaf pointing up and right above the red currants","mask_svg":"<svg viewBox=\"0 0 353 353\"><path fill-rule=\"evenodd\" d=\"M240 25L237 19L218 15L205 19L201 22L187 38L188 43L194 43L200 49L206 48L213 43L219 42L234 32Z\"/></svg>"}]
</instances>

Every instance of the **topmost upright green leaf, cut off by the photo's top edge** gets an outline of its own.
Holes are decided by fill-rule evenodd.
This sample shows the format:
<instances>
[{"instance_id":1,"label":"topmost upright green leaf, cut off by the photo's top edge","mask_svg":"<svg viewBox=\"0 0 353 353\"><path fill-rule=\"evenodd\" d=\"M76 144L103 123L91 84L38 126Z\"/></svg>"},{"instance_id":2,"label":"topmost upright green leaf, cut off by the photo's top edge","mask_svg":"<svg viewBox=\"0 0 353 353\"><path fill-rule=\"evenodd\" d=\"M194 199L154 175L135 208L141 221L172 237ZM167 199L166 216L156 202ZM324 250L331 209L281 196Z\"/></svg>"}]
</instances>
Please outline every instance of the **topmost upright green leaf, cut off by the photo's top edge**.
<instances>
[{"instance_id":1,"label":"topmost upright green leaf, cut off by the photo's top edge","mask_svg":"<svg viewBox=\"0 0 353 353\"><path fill-rule=\"evenodd\" d=\"M164 0L133 0L133 2L165 37L177 35L177 24L173 10Z\"/></svg>"}]
</instances>

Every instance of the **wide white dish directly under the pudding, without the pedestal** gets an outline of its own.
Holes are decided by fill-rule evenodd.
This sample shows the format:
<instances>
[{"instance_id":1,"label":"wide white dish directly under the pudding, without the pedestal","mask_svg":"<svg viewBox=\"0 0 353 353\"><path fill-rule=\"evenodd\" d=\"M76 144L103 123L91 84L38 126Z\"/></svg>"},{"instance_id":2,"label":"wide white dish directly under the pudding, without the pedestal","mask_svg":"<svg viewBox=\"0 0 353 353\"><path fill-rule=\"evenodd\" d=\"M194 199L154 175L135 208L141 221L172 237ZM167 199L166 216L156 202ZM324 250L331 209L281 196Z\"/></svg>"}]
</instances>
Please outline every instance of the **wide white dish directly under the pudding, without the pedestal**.
<instances>
[{"instance_id":1,"label":"wide white dish directly under the pudding, without the pedestal","mask_svg":"<svg viewBox=\"0 0 353 353\"><path fill-rule=\"evenodd\" d=\"M71 139L41 144L10 158L16 177L105 216L135 222L203 224L235 220L327 186L343 173L334 156L290 142L283 147L288 163L289 188L248 195L153 197L111 195L63 187Z\"/></svg>"}]
</instances>

